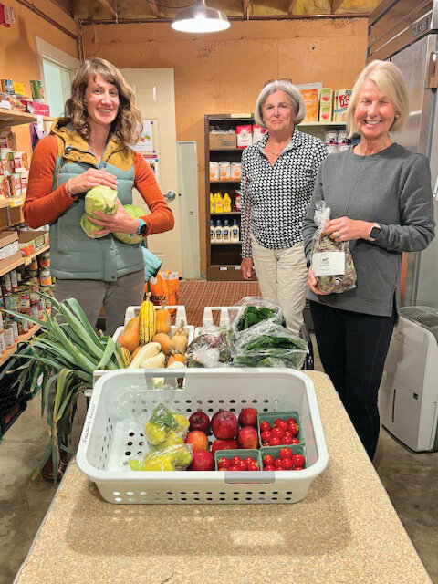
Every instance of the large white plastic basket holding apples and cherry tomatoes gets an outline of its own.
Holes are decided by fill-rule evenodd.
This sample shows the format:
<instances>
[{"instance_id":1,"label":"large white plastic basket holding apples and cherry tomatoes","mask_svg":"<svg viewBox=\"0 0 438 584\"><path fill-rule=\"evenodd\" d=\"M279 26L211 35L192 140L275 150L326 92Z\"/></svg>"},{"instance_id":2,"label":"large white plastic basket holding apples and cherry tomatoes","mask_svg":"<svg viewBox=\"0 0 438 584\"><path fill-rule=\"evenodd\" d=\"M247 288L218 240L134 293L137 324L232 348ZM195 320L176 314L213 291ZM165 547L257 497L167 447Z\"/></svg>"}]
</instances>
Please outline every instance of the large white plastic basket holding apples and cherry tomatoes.
<instances>
[{"instance_id":1,"label":"large white plastic basket holding apples and cherry tomatoes","mask_svg":"<svg viewBox=\"0 0 438 584\"><path fill-rule=\"evenodd\" d=\"M153 390L151 378L185 377L185 387ZM120 400L120 395L124 398ZM306 432L307 468L299 473L131 471L129 459L148 451L136 421L144 423L159 403L190 416L198 409L240 412L300 412ZM120 405L122 404L122 405ZM78 468L115 504L295 503L328 464L328 452L313 383L296 370L118 370L94 388L77 454Z\"/></svg>"}]
</instances>

